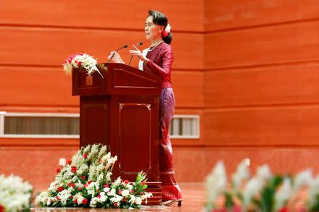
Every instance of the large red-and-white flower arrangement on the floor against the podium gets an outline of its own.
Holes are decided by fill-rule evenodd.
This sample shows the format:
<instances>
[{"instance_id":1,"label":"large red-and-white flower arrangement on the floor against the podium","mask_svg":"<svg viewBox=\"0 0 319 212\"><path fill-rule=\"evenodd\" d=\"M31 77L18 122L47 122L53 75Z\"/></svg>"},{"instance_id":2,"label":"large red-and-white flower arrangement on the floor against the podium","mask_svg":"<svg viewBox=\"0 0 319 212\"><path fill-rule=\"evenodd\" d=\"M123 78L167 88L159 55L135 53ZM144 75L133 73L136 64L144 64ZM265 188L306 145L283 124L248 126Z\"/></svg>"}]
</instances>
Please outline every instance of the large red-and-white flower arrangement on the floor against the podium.
<instances>
[{"instance_id":1,"label":"large red-and-white flower arrangement on the floor against the podium","mask_svg":"<svg viewBox=\"0 0 319 212\"><path fill-rule=\"evenodd\" d=\"M139 208L152 196L145 192L147 179L140 172L135 182L121 177L111 182L116 160L101 144L82 147L62 170L57 170L55 181L35 203L42 207Z\"/></svg>"}]
</instances>

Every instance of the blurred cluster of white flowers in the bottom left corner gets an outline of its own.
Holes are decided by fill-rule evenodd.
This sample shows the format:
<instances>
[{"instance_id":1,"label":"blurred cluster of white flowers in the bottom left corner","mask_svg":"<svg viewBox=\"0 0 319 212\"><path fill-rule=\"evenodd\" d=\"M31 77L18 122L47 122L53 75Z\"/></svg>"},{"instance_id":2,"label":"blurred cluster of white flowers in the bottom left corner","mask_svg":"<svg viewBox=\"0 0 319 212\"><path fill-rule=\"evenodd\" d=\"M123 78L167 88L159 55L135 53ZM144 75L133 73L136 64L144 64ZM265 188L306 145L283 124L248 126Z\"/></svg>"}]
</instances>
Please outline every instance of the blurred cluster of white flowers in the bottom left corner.
<instances>
[{"instance_id":1,"label":"blurred cluster of white flowers in the bottom left corner","mask_svg":"<svg viewBox=\"0 0 319 212\"><path fill-rule=\"evenodd\" d=\"M0 175L0 211L28 211L33 187L18 176Z\"/></svg>"}]
</instances>

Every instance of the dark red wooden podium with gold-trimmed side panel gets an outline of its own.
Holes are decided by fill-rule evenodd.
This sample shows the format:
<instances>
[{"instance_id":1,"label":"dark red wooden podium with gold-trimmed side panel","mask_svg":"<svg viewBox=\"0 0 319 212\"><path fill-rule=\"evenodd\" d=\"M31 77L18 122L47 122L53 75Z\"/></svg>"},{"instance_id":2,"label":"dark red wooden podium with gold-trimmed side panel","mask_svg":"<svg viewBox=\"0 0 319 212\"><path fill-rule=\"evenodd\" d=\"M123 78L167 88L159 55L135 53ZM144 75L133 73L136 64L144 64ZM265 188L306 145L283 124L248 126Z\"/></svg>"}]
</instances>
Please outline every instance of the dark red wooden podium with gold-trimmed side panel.
<instances>
[{"instance_id":1,"label":"dark red wooden podium with gold-trimmed side panel","mask_svg":"<svg viewBox=\"0 0 319 212\"><path fill-rule=\"evenodd\" d=\"M147 173L147 204L162 201L159 182L159 78L124 64L98 64L88 76L72 72L72 95L80 96L80 146L102 143L118 156L113 179L135 182Z\"/></svg>"}]
</instances>

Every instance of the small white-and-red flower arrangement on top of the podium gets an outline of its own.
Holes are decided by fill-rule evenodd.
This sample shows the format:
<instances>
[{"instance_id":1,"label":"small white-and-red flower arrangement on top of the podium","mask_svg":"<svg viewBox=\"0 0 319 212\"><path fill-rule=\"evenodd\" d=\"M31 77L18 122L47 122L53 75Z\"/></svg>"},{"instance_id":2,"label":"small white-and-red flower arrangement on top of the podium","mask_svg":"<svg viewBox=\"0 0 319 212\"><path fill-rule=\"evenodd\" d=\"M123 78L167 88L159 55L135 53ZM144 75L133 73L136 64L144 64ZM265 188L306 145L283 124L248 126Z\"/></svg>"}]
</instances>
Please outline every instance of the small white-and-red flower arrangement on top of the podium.
<instances>
[{"instance_id":1,"label":"small white-and-red flower arrangement on top of the podium","mask_svg":"<svg viewBox=\"0 0 319 212\"><path fill-rule=\"evenodd\" d=\"M89 56L85 53L73 54L65 60L65 64L63 64L63 69L65 73L72 73L73 68L79 68L79 66L83 66L86 70L87 74L91 74L94 71L98 71L99 69L96 67L96 59ZM101 73L100 73L101 74Z\"/></svg>"}]
</instances>

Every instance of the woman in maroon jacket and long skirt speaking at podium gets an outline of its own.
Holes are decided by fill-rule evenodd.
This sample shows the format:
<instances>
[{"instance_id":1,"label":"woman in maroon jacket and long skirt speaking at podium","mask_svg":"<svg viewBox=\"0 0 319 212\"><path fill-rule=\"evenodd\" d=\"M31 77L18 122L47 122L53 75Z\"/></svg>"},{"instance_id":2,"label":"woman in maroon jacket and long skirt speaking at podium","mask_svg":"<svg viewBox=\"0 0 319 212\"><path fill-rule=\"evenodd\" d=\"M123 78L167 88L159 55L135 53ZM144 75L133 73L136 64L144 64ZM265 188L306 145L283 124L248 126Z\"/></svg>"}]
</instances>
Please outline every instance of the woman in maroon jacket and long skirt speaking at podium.
<instances>
[{"instance_id":1,"label":"woman in maroon jacket and long skirt speaking at podium","mask_svg":"<svg viewBox=\"0 0 319 212\"><path fill-rule=\"evenodd\" d=\"M166 16L157 11L149 11L145 22L146 39L150 47L142 52L135 49L130 54L140 58L139 69L154 73L162 79L162 92L159 96L159 180L162 182L162 201L165 206L178 202L181 206L181 189L175 180L173 169L172 144L169 139L169 124L175 108L175 98L171 82L173 52L170 43L172 34ZM114 55L113 55L114 54ZM117 52L111 52L113 61L123 63Z\"/></svg>"}]
</instances>

